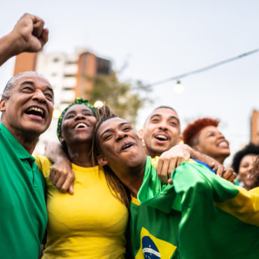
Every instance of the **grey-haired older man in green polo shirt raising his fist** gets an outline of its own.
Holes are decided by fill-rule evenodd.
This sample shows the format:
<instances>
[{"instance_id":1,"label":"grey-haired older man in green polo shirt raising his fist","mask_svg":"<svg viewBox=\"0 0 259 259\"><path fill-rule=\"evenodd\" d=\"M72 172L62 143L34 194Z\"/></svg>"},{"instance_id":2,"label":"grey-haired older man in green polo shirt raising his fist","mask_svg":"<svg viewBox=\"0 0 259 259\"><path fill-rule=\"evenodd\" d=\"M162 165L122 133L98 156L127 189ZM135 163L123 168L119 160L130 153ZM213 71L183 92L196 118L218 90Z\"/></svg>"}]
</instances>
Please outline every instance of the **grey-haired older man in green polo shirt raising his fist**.
<instances>
[{"instance_id":1,"label":"grey-haired older man in green polo shirt raising his fist","mask_svg":"<svg viewBox=\"0 0 259 259\"><path fill-rule=\"evenodd\" d=\"M48 41L44 22L25 14L0 38L0 65L23 51L38 51ZM45 232L45 183L31 153L50 125L53 91L36 72L11 78L1 96L0 174L1 258L37 258Z\"/></svg>"}]
</instances>

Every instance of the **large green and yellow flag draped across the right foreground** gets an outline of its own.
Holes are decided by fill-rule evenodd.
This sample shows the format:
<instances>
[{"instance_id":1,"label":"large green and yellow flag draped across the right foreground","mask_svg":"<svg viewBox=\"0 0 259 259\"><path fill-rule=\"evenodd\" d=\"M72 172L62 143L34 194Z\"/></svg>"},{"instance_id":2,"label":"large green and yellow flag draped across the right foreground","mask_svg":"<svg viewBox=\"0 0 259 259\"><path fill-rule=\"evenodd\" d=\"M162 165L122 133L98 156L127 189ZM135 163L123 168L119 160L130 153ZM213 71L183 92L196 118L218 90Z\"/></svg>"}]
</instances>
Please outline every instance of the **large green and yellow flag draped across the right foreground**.
<instances>
[{"instance_id":1,"label":"large green and yellow flag draped across the right foreground","mask_svg":"<svg viewBox=\"0 0 259 259\"><path fill-rule=\"evenodd\" d=\"M166 213L181 210L181 258L259 258L259 188L235 186L193 160L182 162L172 179L160 190L144 179L138 199Z\"/></svg>"}]
</instances>

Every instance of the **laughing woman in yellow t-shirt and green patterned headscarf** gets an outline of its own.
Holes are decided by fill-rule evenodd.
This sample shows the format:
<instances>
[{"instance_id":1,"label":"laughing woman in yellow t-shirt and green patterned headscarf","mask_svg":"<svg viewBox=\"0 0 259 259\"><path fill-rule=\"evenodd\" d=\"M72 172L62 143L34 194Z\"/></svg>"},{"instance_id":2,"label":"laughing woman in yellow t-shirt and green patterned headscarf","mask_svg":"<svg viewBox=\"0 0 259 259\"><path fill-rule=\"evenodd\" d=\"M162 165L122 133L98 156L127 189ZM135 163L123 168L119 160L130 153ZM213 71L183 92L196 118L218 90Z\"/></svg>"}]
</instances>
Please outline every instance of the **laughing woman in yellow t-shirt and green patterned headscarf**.
<instances>
[{"instance_id":1,"label":"laughing woman in yellow t-shirt and green patterned headscarf","mask_svg":"<svg viewBox=\"0 0 259 259\"><path fill-rule=\"evenodd\" d=\"M128 212L95 166L91 147L96 111L76 99L59 118L57 136L75 173L74 193L61 193L48 178L52 163L38 156L36 162L47 183L48 227L43 258L124 258ZM95 164L96 165L96 164Z\"/></svg>"}]
</instances>

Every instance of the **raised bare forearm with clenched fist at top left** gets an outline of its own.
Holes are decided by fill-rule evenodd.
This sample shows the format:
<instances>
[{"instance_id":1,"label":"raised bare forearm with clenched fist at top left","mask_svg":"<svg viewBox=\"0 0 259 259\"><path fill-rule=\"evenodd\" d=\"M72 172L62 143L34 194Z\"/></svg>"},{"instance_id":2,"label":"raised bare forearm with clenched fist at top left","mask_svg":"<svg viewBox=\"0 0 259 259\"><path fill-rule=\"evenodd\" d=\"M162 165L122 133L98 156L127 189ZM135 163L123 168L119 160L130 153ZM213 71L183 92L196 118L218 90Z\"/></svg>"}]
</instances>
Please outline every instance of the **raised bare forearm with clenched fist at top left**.
<instances>
[{"instance_id":1,"label":"raised bare forearm with clenched fist at top left","mask_svg":"<svg viewBox=\"0 0 259 259\"><path fill-rule=\"evenodd\" d=\"M25 13L9 34L0 38L0 66L7 59L21 52L37 52L48 41L44 21Z\"/></svg>"}]
</instances>

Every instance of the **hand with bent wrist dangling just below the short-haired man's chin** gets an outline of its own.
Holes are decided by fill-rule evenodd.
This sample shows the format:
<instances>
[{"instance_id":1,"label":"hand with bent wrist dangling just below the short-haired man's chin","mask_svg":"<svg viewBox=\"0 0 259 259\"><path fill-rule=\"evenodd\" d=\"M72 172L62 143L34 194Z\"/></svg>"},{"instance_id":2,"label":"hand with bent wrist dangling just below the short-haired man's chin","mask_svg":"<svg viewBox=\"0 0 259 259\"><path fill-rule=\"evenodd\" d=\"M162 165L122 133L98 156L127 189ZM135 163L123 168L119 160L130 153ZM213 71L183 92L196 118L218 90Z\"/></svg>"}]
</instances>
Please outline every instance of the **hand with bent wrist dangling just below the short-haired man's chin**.
<instances>
[{"instance_id":1,"label":"hand with bent wrist dangling just below the short-haired man's chin","mask_svg":"<svg viewBox=\"0 0 259 259\"><path fill-rule=\"evenodd\" d=\"M174 172L174 169L181 164L181 162L190 159L189 149L189 146L180 144L173 146L169 151L165 151L160 155L157 172L161 183L173 183L171 174Z\"/></svg>"}]
</instances>

